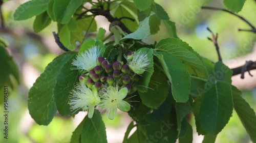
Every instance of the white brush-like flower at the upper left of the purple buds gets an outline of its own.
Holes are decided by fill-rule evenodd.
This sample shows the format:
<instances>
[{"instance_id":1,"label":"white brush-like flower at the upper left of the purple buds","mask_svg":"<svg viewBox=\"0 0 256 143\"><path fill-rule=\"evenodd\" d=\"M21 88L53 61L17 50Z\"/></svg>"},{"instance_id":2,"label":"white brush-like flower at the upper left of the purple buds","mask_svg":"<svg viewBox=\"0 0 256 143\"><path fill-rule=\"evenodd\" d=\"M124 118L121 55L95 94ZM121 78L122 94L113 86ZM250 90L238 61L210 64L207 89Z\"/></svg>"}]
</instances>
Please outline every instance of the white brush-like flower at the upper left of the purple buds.
<instances>
[{"instance_id":1,"label":"white brush-like flower at the upper left of the purple buds","mask_svg":"<svg viewBox=\"0 0 256 143\"><path fill-rule=\"evenodd\" d=\"M97 58L100 56L101 52L102 51L98 46L93 46L89 50L78 54L72 63L72 65L76 66L76 68L72 69L80 69L82 71L92 70L95 66L97 66Z\"/></svg>"}]
</instances>

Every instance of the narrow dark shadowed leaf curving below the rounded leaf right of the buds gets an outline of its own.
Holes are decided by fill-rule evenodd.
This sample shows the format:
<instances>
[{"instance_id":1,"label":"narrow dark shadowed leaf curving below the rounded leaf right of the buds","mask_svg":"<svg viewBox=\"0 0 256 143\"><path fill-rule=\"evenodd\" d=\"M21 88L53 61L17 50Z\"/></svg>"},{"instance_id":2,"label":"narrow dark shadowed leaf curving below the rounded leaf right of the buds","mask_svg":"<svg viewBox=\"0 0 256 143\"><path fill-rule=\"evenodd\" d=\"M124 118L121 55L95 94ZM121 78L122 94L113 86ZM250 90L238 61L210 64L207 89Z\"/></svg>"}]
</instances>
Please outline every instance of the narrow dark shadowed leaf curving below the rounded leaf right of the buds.
<instances>
[{"instance_id":1,"label":"narrow dark shadowed leaf curving below the rounded leaf right of the buds","mask_svg":"<svg viewBox=\"0 0 256 143\"><path fill-rule=\"evenodd\" d=\"M154 109L152 113L145 115L146 122L152 124L164 120L166 115L168 115L172 109L173 100L172 91L169 90L166 100L160 105L160 107L158 109Z\"/></svg>"}]
</instances>

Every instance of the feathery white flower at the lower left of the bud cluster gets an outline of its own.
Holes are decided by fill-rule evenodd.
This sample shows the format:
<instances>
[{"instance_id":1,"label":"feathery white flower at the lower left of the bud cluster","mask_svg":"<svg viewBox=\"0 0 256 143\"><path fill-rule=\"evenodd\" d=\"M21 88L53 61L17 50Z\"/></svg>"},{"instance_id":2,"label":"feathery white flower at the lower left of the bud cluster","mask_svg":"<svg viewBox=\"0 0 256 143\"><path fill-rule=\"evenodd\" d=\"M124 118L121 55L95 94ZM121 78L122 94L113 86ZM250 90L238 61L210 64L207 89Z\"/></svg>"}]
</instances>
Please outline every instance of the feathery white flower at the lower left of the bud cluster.
<instances>
[{"instance_id":1,"label":"feathery white flower at the lower left of the bud cluster","mask_svg":"<svg viewBox=\"0 0 256 143\"><path fill-rule=\"evenodd\" d=\"M78 83L71 91L69 97L70 108L75 112L80 108L83 111L88 110L88 117L92 118L94 113L94 107L100 103L98 91L94 87L89 89L84 82Z\"/></svg>"}]
</instances>

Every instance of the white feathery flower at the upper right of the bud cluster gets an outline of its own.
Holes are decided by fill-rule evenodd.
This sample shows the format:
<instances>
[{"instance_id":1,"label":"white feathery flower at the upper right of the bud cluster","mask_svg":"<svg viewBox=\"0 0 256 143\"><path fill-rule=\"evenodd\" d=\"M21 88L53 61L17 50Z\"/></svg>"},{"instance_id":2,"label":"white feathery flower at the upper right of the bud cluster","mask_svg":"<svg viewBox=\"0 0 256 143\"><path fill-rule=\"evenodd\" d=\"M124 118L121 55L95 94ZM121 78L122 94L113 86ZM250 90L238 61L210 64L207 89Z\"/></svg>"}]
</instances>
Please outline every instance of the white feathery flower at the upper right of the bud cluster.
<instances>
[{"instance_id":1,"label":"white feathery flower at the upper right of the bud cluster","mask_svg":"<svg viewBox=\"0 0 256 143\"><path fill-rule=\"evenodd\" d=\"M133 52L133 59L129 60L126 56L127 65L136 74L143 74L150 67L151 60L147 57L146 52Z\"/></svg>"}]
</instances>

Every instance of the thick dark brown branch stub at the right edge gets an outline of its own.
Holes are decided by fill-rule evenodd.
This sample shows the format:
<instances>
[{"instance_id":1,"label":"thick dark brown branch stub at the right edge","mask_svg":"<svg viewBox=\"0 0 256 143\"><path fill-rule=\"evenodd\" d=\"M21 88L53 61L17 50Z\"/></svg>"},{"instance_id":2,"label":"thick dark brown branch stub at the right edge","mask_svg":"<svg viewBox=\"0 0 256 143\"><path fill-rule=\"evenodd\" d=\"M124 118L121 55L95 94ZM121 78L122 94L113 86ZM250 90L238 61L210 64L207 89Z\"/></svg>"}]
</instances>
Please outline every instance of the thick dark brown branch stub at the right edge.
<instances>
[{"instance_id":1,"label":"thick dark brown branch stub at the right edge","mask_svg":"<svg viewBox=\"0 0 256 143\"><path fill-rule=\"evenodd\" d=\"M249 75L252 76L250 74L250 70L254 70L254 69L256 69L256 61L254 61L254 62L253 61L246 61L245 65L237 67L237 68L233 68L231 70L233 71L232 75L241 74L241 78L244 79L244 73L246 71L248 71Z\"/></svg>"}]
</instances>

